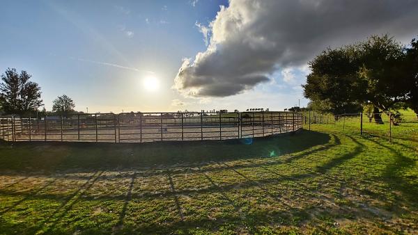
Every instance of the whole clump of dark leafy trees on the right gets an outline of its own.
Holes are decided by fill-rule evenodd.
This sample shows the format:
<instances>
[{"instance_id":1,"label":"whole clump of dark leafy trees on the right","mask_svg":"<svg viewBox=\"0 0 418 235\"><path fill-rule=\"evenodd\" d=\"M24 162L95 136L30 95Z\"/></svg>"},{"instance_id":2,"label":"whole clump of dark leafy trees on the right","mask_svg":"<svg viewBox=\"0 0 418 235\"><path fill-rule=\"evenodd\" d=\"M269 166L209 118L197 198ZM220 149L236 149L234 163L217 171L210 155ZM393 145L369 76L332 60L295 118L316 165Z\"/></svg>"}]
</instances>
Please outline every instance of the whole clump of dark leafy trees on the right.
<instances>
[{"instance_id":1,"label":"whole clump of dark leafy trees on the right","mask_svg":"<svg viewBox=\"0 0 418 235\"><path fill-rule=\"evenodd\" d=\"M376 122L381 112L411 108L418 113L418 42L404 46L389 35L372 35L309 62L303 85L311 107L324 113L357 113L369 108Z\"/></svg>"}]
</instances>

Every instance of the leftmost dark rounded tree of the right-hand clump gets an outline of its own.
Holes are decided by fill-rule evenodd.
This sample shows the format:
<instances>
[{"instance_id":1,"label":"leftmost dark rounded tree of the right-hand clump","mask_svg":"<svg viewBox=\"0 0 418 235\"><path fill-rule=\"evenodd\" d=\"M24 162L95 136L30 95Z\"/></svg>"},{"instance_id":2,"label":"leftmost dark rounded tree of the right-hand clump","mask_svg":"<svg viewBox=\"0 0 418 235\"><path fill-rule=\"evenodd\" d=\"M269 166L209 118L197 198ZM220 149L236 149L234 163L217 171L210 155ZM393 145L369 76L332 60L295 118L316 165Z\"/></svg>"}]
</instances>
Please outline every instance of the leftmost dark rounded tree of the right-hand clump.
<instances>
[{"instance_id":1,"label":"leftmost dark rounded tree of the right-hand clump","mask_svg":"<svg viewBox=\"0 0 418 235\"><path fill-rule=\"evenodd\" d=\"M361 106L356 81L359 67L355 47L323 51L309 62L311 73L303 85L304 96L312 100L318 111L325 113L357 113Z\"/></svg>"}]
</instances>

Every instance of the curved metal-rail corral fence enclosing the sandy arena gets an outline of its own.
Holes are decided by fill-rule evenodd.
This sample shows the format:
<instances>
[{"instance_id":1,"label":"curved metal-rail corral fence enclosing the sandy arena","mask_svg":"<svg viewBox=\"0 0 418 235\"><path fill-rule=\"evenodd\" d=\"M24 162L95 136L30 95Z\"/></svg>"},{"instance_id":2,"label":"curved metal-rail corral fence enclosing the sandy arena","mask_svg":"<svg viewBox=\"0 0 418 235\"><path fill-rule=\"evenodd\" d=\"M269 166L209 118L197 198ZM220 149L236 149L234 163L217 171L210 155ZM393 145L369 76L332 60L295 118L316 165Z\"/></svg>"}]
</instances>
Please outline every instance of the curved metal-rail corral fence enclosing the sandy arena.
<instances>
[{"instance_id":1,"label":"curved metal-rail corral fence enclosing the sandy arena","mask_svg":"<svg viewBox=\"0 0 418 235\"><path fill-rule=\"evenodd\" d=\"M153 142L226 140L297 131L302 113L94 113L70 117L3 117L1 138L8 141Z\"/></svg>"}]
</instances>

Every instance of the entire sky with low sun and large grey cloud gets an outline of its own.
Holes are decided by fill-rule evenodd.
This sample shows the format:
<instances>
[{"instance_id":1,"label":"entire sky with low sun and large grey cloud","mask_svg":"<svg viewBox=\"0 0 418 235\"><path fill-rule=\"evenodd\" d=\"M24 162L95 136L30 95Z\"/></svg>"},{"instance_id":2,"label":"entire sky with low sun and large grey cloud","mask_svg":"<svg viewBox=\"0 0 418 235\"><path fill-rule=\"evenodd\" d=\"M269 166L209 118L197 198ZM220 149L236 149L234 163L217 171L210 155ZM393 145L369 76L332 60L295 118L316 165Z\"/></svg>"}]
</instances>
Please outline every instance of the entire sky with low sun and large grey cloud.
<instances>
[{"instance_id":1,"label":"entire sky with low sun and large grey cloud","mask_svg":"<svg viewBox=\"0 0 418 235\"><path fill-rule=\"evenodd\" d=\"M0 73L26 70L47 110L201 111L306 106L327 47L418 35L413 0L0 2Z\"/></svg>"}]
</instances>

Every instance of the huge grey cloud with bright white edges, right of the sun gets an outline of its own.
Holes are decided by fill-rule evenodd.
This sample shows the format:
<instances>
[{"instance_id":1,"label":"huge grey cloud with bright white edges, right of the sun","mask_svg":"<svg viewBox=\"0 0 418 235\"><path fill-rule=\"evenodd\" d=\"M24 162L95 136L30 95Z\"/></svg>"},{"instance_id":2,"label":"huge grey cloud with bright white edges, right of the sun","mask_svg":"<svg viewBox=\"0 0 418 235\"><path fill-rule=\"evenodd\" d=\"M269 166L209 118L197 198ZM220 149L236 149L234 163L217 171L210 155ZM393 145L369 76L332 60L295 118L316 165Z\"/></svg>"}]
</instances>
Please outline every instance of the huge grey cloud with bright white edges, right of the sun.
<instances>
[{"instance_id":1,"label":"huge grey cloud with bright white edges, right of the sun","mask_svg":"<svg viewBox=\"0 0 418 235\"><path fill-rule=\"evenodd\" d=\"M231 0L208 26L196 23L208 47L183 60L173 88L191 97L236 95L329 46L372 33L410 39L417 15L418 1L408 0Z\"/></svg>"}]
</instances>

